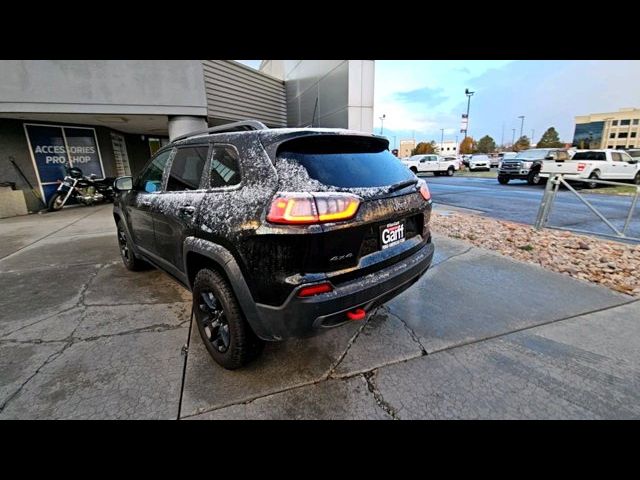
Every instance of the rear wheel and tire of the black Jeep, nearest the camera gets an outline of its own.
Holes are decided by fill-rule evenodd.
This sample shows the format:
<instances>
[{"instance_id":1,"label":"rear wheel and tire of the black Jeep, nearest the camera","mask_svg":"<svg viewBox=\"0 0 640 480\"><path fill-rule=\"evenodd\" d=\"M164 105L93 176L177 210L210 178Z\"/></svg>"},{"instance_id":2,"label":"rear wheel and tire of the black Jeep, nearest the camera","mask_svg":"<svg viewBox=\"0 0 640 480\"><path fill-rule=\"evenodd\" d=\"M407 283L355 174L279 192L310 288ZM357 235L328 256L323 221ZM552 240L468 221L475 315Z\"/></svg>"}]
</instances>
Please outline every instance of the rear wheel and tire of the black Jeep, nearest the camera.
<instances>
[{"instance_id":1,"label":"rear wheel and tire of the black Jeep, nearest the camera","mask_svg":"<svg viewBox=\"0 0 640 480\"><path fill-rule=\"evenodd\" d=\"M218 272L203 268L196 274L193 312L200 337L220 366L235 370L262 352L264 342L251 330L231 286Z\"/></svg>"}]
</instances>

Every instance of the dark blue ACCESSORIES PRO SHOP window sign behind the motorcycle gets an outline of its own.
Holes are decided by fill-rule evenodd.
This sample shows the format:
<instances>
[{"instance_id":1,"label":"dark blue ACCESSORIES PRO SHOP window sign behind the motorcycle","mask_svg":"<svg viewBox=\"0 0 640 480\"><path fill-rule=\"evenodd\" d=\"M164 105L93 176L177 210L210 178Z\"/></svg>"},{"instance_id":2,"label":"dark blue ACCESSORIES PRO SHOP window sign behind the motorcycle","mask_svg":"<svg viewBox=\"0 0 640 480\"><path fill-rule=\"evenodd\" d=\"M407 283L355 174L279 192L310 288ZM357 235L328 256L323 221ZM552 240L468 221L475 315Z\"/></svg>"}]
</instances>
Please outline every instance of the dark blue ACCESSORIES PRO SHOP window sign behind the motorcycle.
<instances>
[{"instance_id":1,"label":"dark blue ACCESSORIES PRO SHOP window sign behind the motorcycle","mask_svg":"<svg viewBox=\"0 0 640 480\"><path fill-rule=\"evenodd\" d=\"M102 158L93 128L24 125L40 189L45 202L58 188L67 167L78 167L84 175L104 178Z\"/></svg>"}]
</instances>

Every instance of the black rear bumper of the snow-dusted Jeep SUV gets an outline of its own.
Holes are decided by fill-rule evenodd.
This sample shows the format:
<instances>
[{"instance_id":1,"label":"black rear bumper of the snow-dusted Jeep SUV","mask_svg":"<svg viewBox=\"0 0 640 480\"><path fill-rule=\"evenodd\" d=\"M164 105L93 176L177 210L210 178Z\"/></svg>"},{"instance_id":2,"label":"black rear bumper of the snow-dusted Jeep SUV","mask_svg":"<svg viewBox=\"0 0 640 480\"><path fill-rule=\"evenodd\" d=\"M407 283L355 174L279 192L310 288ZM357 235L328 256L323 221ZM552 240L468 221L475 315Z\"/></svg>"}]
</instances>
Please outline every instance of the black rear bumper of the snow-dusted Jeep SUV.
<instances>
[{"instance_id":1,"label":"black rear bumper of the snow-dusted Jeep SUV","mask_svg":"<svg viewBox=\"0 0 640 480\"><path fill-rule=\"evenodd\" d=\"M375 273L341 283L329 293L298 298L296 288L278 307L258 303L257 317L250 323L263 340L308 337L349 322L346 313L356 308L367 314L388 302L422 277L433 259L433 243L410 257Z\"/></svg>"}]
</instances>

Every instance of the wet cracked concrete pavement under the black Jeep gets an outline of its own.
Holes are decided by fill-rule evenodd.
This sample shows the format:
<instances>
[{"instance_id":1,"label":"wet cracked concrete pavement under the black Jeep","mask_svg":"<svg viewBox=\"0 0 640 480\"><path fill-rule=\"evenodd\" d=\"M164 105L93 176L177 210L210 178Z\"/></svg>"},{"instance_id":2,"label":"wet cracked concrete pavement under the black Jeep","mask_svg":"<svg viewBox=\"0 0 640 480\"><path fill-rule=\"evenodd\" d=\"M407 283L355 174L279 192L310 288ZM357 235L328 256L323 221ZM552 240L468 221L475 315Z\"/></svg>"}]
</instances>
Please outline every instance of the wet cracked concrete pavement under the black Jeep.
<instances>
[{"instance_id":1,"label":"wet cracked concrete pavement under the black Jeep","mask_svg":"<svg viewBox=\"0 0 640 480\"><path fill-rule=\"evenodd\" d=\"M435 241L367 323L229 372L195 327L184 368L189 293L124 269L110 205L2 220L0 418L640 416L637 301Z\"/></svg>"}]
</instances>

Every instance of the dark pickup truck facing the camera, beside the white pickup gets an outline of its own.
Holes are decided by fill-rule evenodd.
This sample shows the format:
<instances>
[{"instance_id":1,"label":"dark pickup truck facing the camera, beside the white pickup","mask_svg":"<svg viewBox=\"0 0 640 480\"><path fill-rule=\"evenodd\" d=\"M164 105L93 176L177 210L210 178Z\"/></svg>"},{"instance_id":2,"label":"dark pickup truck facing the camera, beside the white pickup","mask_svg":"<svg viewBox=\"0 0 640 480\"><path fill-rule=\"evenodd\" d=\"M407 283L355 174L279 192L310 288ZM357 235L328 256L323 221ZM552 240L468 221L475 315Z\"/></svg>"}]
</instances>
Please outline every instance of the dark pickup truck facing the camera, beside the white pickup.
<instances>
[{"instance_id":1,"label":"dark pickup truck facing the camera, beside the white pickup","mask_svg":"<svg viewBox=\"0 0 640 480\"><path fill-rule=\"evenodd\" d=\"M530 148L518 152L512 159L502 161L498 169L498 182L506 185L509 180L526 180L529 185L538 185L543 181L540 176L542 164L546 161L565 162L569 154L562 148Z\"/></svg>"}]
</instances>

